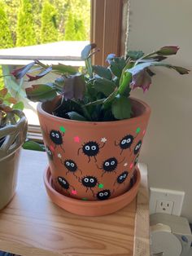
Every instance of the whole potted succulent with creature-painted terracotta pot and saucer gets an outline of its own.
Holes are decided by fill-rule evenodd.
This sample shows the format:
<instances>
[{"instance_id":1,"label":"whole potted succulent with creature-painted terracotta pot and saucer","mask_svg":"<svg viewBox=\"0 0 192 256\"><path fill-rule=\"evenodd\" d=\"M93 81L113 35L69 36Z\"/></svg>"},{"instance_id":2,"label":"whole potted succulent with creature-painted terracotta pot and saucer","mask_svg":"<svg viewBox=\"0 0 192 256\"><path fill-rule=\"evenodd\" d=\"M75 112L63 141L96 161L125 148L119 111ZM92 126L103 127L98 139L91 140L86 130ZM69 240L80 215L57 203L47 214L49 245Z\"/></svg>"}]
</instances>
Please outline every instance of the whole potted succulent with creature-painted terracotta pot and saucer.
<instances>
[{"instance_id":1,"label":"whole potted succulent with creature-painted terracotta pot and saucer","mask_svg":"<svg viewBox=\"0 0 192 256\"><path fill-rule=\"evenodd\" d=\"M188 73L162 62L177 53L177 46L164 46L148 55L142 51L129 51L125 57L111 54L108 67L91 64L97 51L95 44L85 46L81 72L35 60L12 73L17 79L26 75L30 82L47 73L57 76L53 82L28 87L26 94L41 102L37 112L49 159L44 177L47 192L56 204L83 215L110 214L136 196L137 159L151 110L131 98L131 90L149 89L153 66Z\"/></svg>"}]
</instances>

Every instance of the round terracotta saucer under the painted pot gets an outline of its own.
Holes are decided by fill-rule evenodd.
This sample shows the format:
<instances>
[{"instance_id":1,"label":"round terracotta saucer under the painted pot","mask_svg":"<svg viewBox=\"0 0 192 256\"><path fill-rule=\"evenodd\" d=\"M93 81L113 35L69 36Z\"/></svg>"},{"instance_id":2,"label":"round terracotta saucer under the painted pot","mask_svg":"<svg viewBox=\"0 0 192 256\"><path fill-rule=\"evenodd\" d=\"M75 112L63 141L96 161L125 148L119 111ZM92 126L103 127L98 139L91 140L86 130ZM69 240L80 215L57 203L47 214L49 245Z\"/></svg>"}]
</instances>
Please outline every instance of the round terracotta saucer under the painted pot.
<instances>
[{"instance_id":1,"label":"round terracotta saucer under the painted pot","mask_svg":"<svg viewBox=\"0 0 192 256\"><path fill-rule=\"evenodd\" d=\"M55 191L55 189L52 187L50 167L47 167L44 173L46 192L50 196L50 199L64 210L68 210L68 212L72 214L83 216L103 216L112 214L117 210L124 208L125 205L129 205L135 196L137 196L140 182L141 174L136 167L133 177L133 186L128 192L106 201L81 201L68 196L63 196L59 192Z\"/></svg>"}]
</instances>

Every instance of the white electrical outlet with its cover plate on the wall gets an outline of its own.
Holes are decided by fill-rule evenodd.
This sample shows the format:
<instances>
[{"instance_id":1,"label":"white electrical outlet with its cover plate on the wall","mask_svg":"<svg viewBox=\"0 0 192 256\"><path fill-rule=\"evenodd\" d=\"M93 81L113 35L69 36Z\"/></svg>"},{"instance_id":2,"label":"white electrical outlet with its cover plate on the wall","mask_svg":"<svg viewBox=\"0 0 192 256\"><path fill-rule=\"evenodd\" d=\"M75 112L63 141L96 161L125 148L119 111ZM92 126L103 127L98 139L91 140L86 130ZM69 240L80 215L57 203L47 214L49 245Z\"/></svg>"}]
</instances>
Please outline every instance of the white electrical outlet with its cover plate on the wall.
<instances>
[{"instance_id":1,"label":"white electrical outlet with its cover plate on the wall","mask_svg":"<svg viewBox=\"0 0 192 256\"><path fill-rule=\"evenodd\" d=\"M180 216L185 192L162 188L150 188L150 212Z\"/></svg>"}]
</instances>

